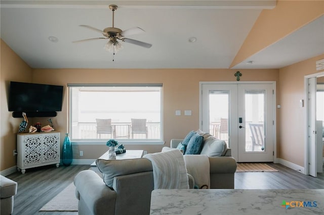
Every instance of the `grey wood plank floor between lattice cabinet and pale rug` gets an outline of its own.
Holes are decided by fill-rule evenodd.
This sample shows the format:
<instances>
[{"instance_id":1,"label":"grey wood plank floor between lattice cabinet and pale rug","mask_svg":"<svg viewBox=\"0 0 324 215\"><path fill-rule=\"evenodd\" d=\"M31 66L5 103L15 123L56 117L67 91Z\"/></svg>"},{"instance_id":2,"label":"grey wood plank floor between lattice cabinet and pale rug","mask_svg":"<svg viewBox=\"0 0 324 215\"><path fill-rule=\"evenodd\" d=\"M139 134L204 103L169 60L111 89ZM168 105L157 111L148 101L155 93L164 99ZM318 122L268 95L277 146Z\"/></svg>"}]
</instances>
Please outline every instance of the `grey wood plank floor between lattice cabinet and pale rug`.
<instances>
[{"instance_id":1,"label":"grey wood plank floor between lattice cabinet and pale rug","mask_svg":"<svg viewBox=\"0 0 324 215\"><path fill-rule=\"evenodd\" d=\"M71 165L69 167L44 166L27 169L25 174L16 172L7 176L18 183L14 196L13 215L72 215L77 212L38 212L47 202L73 182L74 176L88 170L90 165Z\"/></svg>"}]
</instances>

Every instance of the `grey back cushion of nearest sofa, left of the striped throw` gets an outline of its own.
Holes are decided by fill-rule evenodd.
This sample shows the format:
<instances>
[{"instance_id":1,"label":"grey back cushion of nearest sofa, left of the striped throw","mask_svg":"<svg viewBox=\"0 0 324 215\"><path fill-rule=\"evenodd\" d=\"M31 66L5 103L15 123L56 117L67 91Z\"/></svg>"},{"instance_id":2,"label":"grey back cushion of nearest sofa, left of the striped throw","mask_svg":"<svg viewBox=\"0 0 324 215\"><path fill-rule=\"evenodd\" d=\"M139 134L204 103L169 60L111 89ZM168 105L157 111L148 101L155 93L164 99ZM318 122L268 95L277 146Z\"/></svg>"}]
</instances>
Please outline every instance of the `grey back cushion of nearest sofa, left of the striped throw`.
<instances>
[{"instance_id":1,"label":"grey back cushion of nearest sofa, left of the striped throw","mask_svg":"<svg viewBox=\"0 0 324 215\"><path fill-rule=\"evenodd\" d=\"M103 181L112 188L113 178L120 175L153 171L152 164L147 158L134 158L122 160L97 159L96 165L103 173Z\"/></svg>"}]
</instances>

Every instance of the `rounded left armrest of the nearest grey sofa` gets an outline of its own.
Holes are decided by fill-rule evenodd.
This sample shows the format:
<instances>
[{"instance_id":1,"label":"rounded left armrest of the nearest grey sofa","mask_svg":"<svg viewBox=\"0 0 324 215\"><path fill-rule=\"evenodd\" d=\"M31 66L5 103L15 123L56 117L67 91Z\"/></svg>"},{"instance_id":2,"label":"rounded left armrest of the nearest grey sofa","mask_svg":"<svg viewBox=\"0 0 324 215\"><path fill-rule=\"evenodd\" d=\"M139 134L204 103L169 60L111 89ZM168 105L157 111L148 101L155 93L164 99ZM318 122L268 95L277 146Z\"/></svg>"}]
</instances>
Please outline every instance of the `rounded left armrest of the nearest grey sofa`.
<instances>
[{"instance_id":1,"label":"rounded left armrest of the nearest grey sofa","mask_svg":"<svg viewBox=\"0 0 324 215\"><path fill-rule=\"evenodd\" d=\"M74 177L74 185L92 214L114 214L116 192L92 170L84 170ZM85 206L85 205L84 205ZM79 214L82 214L79 211Z\"/></svg>"}]
</instances>

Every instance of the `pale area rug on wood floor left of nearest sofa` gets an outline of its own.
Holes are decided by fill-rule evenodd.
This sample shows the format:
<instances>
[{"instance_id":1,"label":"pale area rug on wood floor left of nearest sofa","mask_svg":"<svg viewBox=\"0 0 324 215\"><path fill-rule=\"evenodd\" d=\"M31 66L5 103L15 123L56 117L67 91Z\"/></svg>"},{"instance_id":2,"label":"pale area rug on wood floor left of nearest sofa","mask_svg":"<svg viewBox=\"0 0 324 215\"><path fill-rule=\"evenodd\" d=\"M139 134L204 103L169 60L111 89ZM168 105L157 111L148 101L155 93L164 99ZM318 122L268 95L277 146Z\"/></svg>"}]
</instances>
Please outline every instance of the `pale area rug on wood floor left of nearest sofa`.
<instances>
[{"instance_id":1,"label":"pale area rug on wood floor left of nearest sofa","mask_svg":"<svg viewBox=\"0 0 324 215\"><path fill-rule=\"evenodd\" d=\"M77 211L75 186L71 183L39 211Z\"/></svg>"}]
</instances>

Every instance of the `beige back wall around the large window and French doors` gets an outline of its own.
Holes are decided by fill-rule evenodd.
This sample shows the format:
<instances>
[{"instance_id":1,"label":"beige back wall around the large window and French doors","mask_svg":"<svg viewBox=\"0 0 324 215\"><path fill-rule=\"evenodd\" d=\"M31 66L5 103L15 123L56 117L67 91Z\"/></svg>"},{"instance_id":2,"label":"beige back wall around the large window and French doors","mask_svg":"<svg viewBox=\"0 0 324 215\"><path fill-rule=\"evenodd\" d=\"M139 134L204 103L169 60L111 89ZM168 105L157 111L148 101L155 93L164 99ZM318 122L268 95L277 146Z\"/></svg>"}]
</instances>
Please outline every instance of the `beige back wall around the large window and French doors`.
<instances>
[{"instance_id":1,"label":"beige back wall around the large window and French doors","mask_svg":"<svg viewBox=\"0 0 324 215\"><path fill-rule=\"evenodd\" d=\"M163 83L164 141L183 138L189 131L199 128L199 81L236 81L229 69L33 69L35 83L64 85L62 112L58 112L54 124L67 131L67 83ZM278 81L278 70L240 70L241 81ZM175 110L192 110L192 116L175 116ZM46 122L44 122L46 123ZM61 139L62 139L61 138ZM63 141L63 139L62 139ZM163 145L126 145L129 149L160 151ZM107 150L104 145L73 146L74 158L96 158ZM78 151L84 156L79 157Z\"/></svg>"}]
</instances>

